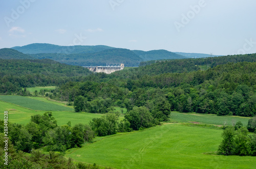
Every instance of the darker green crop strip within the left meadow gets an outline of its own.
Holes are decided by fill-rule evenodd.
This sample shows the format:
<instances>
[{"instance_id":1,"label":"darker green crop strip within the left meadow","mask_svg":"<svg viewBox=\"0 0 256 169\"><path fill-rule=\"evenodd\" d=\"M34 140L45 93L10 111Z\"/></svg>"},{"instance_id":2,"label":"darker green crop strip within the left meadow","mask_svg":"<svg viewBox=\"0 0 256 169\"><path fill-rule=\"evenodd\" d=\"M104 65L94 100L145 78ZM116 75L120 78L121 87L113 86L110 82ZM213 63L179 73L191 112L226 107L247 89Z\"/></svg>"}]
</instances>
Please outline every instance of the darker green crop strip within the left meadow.
<instances>
[{"instance_id":1,"label":"darker green crop strip within the left meadow","mask_svg":"<svg viewBox=\"0 0 256 169\"><path fill-rule=\"evenodd\" d=\"M22 96L0 96L0 100L13 103L22 107L30 108L33 110L46 110L46 111L73 111L73 108L60 106L57 104L44 102L36 99L31 99Z\"/></svg>"}]
</instances>

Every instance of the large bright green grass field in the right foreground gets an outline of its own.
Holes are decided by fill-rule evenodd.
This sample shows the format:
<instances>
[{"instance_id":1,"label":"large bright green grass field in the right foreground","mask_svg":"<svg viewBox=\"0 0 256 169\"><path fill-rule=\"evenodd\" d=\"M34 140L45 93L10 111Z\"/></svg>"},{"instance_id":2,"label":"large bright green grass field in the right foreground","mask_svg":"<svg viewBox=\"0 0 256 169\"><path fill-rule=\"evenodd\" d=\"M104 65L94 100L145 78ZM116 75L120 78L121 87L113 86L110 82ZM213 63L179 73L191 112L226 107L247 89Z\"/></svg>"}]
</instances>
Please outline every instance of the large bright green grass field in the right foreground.
<instances>
[{"instance_id":1,"label":"large bright green grass field in the right foreground","mask_svg":"<svg viewBox=\"0 0 256 169\"><path fill-rule=\"evenodd\" d=\"M115 168L253 168L255 157L205 155L217 151L222 130L166 124L115 135L70 151L76 161Z\"/></svg>"}]
</instances>

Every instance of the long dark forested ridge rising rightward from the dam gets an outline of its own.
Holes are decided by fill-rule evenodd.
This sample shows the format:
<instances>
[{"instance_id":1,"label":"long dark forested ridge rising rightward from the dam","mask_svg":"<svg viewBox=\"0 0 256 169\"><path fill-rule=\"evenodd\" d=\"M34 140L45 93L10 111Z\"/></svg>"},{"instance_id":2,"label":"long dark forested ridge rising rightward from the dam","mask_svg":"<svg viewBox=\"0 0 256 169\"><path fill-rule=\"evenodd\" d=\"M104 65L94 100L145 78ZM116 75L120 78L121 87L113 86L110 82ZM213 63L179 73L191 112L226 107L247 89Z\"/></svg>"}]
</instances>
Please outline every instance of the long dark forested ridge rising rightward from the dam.
<instances>
[{"instance_id":1,"label":"long dark forested ridge rising rightward from the dam","mask_svg":"<svg viewBox=\"0 0 256 169\"><path fill-rule=\"evenodd\" d=\"M256 53L244 55L228 55L224 57L181 59L168 61L142 62L140 67L111 73L117 78L135 78L143 75L158 75L163 73L185 73L206 70L217 65L238 62L256 62ZM146 65L146 66L143 66Z\"/></svg>"}]
</instances>

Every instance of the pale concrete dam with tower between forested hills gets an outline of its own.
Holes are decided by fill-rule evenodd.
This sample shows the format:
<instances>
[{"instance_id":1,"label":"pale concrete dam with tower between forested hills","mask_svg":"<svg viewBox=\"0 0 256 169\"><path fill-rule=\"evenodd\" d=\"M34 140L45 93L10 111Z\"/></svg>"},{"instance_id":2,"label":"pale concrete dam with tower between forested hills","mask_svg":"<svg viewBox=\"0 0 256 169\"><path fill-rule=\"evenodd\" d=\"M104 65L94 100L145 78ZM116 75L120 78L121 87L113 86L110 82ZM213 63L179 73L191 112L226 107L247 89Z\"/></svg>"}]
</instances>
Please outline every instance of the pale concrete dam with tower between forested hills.
<instances>
[{"instance_id":1,"label":"pale concrete dam with tower between forested hills","mask_svg":"<svg viewBox=\"0 0 256 169\"><path fill-rule=\"evenodd\" d=\"M106 64L106 66L83 66L92 72L110 74L115 71L123 70L124 64Z\"/></svg>"}]
</instances>

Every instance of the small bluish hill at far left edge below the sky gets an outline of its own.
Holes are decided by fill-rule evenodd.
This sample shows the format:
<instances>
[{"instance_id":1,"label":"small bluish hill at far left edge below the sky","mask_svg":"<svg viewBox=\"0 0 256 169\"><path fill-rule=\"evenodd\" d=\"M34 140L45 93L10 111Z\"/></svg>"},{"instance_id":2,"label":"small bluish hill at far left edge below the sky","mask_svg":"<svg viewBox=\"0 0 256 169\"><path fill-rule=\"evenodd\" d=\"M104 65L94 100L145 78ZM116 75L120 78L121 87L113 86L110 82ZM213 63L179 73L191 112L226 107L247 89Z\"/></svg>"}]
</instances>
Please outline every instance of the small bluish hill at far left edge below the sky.
<instances>
[{"instance_id":1,"label":"small bluish hill at far left edge below the sky","mask_svg":"<svg viewBox=\"0 0 256 169\"><path fill-rule=\"evenodd\" d=\"M14 49L0 49L0 59L34 59L30 55L24 54Z\"/></svg>"}]
</instances>

